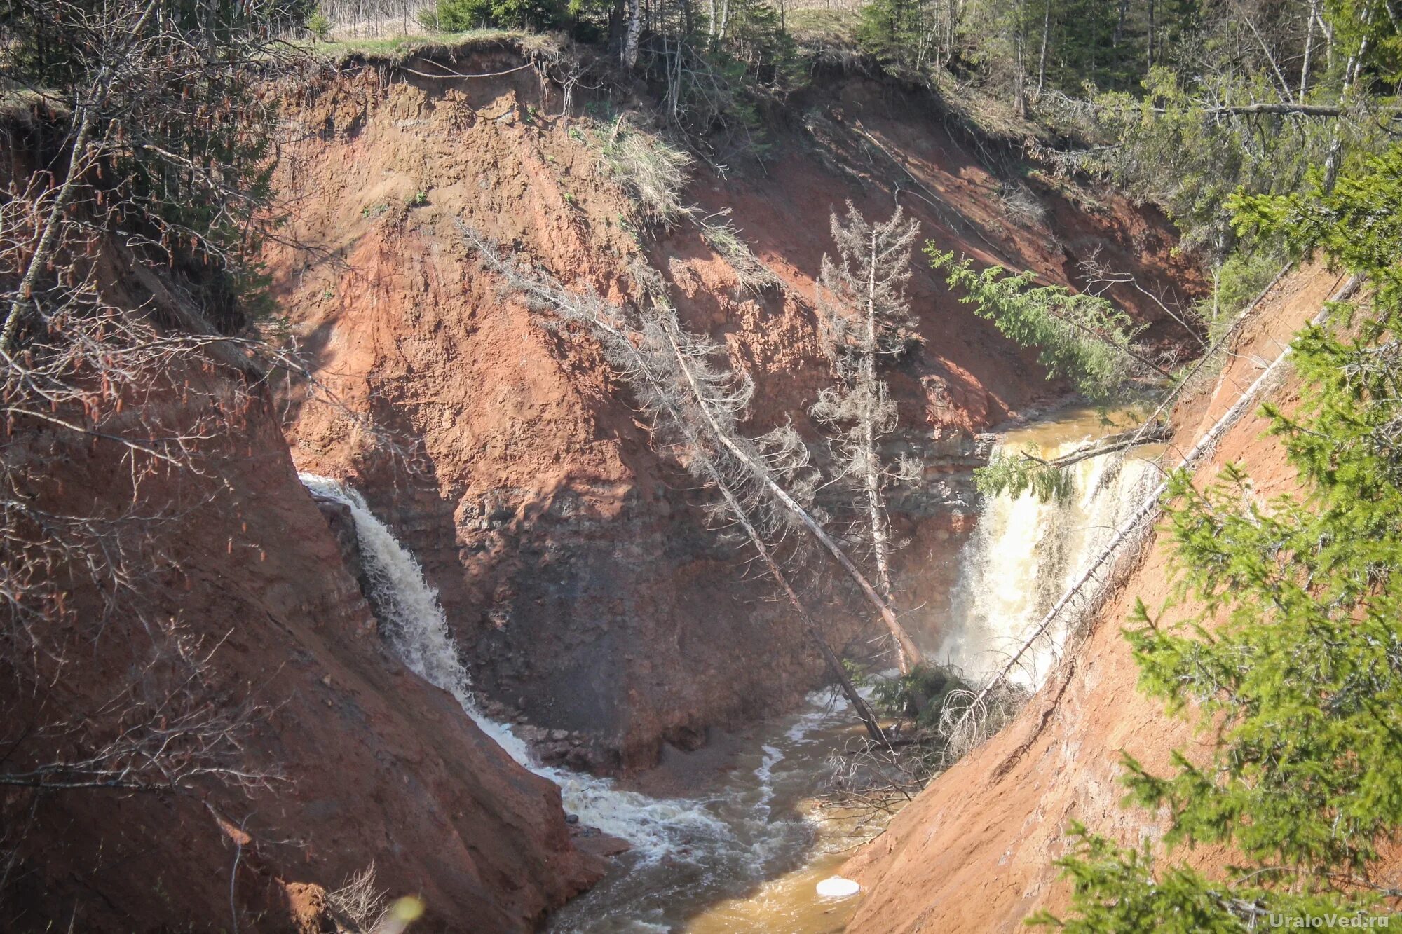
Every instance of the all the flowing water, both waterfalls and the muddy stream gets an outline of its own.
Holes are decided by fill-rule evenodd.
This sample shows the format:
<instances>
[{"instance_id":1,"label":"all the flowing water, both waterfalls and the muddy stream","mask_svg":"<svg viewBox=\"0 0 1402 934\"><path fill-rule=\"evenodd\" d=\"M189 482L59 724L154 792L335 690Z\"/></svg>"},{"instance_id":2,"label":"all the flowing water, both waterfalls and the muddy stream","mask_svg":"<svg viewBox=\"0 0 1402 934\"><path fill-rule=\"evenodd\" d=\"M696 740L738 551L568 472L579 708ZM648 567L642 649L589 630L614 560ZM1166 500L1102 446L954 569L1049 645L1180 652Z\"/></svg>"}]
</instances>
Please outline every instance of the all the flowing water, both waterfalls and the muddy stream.
<instances>
[{"instance_id":1,"label":"all the flowing water, both waterfalls and the muddy stream","mask_svg":"<svg viewBox=\"0 0 1402 934\"><path fill-rule=\"evenodd\" d=\"M1075 412L1018 429L1002 445L1033 445L1054 456L1095 433L1095 419ZM1112 457L1080 467L1071 503L1043 505L1030 494L986 503L965 547L941 658L977 680L1021 641L1141 489L1147 466ZM754 726L736 740L726 767L688 787L684 798L541 766L509 725L478 710L437 593L414 555L355 489L313 474L301 481L350 508L383 632L404 663L450 691L512 759L559 785L565 811L580 823L632 846L604 881L555 916L552 931L829 934L845 927L859 896L823 899L815 891L858 841L844 815L815 801L829 756L859 733L841 697L813 694L803 712ZM1059 648L1059 634L1039 647L1019 675L1025 686L1040 684Z\"/></svg>"}]
</instances>

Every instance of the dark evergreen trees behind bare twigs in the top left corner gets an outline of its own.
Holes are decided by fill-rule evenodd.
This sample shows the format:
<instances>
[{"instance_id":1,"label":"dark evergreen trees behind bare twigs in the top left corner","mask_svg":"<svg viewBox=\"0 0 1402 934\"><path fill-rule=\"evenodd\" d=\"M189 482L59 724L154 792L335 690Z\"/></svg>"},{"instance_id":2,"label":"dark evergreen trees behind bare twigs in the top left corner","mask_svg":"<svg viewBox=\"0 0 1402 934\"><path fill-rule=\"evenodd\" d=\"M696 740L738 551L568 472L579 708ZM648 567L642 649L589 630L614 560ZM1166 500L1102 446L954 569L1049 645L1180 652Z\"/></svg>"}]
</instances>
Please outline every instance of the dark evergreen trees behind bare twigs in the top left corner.
<instances>
[{"instance_id":1,"label":"dark evergreen trees behind bare twigs in the top left corner","mask_svg":"<svg viewBox=\"0 0 1402 934\"><path fill-rule=\"evenodd\" d=\"M276 116L257 90L259 67L285 60L271 34L311 10L303 0L14 0L0 10L0 77L42 88L66 146L83 137L64 216L182 273L227 332L264 307L257 254L273 223Z\"/></svg>"}]
</instances>

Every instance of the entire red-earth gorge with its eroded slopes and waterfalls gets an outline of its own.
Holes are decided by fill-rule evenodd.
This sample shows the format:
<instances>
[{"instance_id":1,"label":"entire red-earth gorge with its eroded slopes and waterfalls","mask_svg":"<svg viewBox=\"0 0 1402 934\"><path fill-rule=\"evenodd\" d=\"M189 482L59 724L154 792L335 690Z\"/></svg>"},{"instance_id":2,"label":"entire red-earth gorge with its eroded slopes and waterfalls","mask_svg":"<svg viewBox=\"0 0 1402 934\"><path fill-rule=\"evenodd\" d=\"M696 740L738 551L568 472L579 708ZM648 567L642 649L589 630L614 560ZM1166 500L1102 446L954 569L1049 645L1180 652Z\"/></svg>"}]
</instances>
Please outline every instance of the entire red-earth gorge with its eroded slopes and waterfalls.
<instances>
[{"instance_id":1,"label":"entire red-earth gorge with its eroded slopes and waterfalls","mask_svg":"<svg viewBox=\"0 0 1402 934\"><path fill-rule=\"evenodd\" d=\"M128 449L11 419L6 457L35 474L35 509L139 513L147 529L119 548L111 589L42 574L112 627L128 620L114 595L139 578L140 631L188 638L210 690L243 704L220 749L247 762L198 794L7 791L0 926L360 930L328 898L373 865L380 891L422 905L411 931L1012 931L1067 906L1053 860L1071 822L1130 844L1159 833L1117 785L1119 750L1161 766L1196 742L1136 693L1120 638L1137 597L1169 596L1152 519L1106 592L1018 668L1028 700L1011 722L899 813L861 830L824 819L823 774L861 725L803 621L686 459L658 449L596 337L533 309L474 237L578 293L674 310L753 380L744 432L792 429L827 474L810 407L834 379L816 299L834 212L899 208L921 244L1039 285L1082 290L1088 269L1113 269L1101 293L1155 359L1183 363L1200 335L1155 296L1192 303L1210 285L1173 226L1035 167L930 88L840 65L770 115L763 160L688 158L681 210L659 223L607 156L656 129L646 88L562 83L572 55L489 34L348 52L261 86L285 121L261 327L296 365L193 353L123 390L121 417L179 428L199 471L139 473ZM42 116L6 119L14 181L53 140ZM188 323L189 296L132 255L111 245L102 302ZM889 503L892 588L928 658L983 683L1218 428L1189 464L1200 477L1239 461L1262 496L1290 491L1267 419L1221 419L1248 390L1295 402L1294 376L1258 377L1343 286L1309 262L1279 276L1221 335L1220 369L1158 412L1159 443L1082 461L1075 496L1043 503L981 492L974 470L1000 450L1074 452L1154 402L1106 422L917 254L882 450L917 468ZM812 508L840 526L830 487ZM857 588L785 547L836 654L868 677L894 668ZM7 698L17 736L112 696L178 719L184 669L153 661L156 635L118 631L57 638L81 677ZM60 830L24 836L25 820ZM861 893L823 902L813 885L831 875Z\"/></svg>"}]
</instances>

